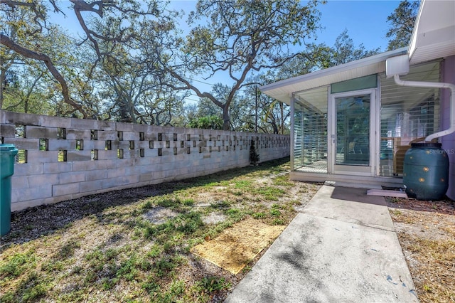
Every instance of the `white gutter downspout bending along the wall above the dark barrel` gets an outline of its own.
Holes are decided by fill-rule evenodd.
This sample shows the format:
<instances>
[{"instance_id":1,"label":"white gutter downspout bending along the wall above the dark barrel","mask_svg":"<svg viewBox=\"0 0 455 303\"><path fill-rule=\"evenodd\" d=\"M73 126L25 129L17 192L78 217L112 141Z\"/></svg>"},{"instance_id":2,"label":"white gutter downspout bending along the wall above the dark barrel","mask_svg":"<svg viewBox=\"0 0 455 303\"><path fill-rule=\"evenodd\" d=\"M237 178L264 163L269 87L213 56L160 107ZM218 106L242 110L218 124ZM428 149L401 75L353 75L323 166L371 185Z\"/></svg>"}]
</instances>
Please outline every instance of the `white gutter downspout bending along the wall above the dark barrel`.
<instances>
[{"instance_id":1,"label":"white gutter downspout bending along the wall above the dark barrel","mask_svg":"<svg viewBox=\"0 0 455 303\"><path fill-rule=\"evenodd\" d=\"M423 81L405 81L400 79L400 75L394 75L393 79L397 85L414 86L414 87L434 87L434 88L449 88L450 92L450 127L441 132L435 132L425 138L426 142L431 142L432 139L445 136L455 132L455 85L451 83L423 82Z\"/></svg>"}]
</instances>

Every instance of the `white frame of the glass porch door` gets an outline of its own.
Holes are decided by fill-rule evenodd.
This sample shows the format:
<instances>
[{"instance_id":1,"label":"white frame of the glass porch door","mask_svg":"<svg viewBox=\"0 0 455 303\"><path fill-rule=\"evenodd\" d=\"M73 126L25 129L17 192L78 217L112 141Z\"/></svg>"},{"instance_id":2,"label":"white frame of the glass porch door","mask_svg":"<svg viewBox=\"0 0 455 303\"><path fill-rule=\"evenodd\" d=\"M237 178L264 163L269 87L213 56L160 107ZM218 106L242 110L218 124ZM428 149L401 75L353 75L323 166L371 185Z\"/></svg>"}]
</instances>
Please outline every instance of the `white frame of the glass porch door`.
<instances>
[{"instance_id":1,"label":"white frame of the glass porch door","mask_svg":"<svg viewBox=\"0 0 455 303\"><path fill-rule=\"evenodd\" d=\"M378 136L378 102L376 101L376 88L369 88L366 90L354 90L350 92L338 92L331 94L328 98L328 173L329 174L345 174L354 176L375 176L377 150L377 136ZM336 98L339 97L355 97L358 95L370 95L370 159L368 166L336 164L336 149L337 149L337 108Z\"/></svg>"}]
</instances>

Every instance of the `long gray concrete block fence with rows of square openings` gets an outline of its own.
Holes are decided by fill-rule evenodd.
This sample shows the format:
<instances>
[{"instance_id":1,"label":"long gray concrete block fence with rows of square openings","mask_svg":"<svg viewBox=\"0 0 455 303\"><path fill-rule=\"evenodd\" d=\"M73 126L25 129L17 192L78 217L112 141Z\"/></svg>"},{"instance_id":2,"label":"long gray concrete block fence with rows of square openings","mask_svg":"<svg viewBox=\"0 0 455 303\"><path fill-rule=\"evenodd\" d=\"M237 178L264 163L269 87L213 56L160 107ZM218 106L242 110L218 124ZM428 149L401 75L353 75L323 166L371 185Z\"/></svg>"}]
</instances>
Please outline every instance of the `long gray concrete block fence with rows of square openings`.
<instances>
[{"instance_id":1,"label":"long gray concrete block fence with rows of square openings","mask_svg":"<svg viewBox=\"0 0 455 303\"><path fill-rule=\"evenodd\" d=\"M0 137L19 150L11 211L248 166L251 139L261 161L289 156L290 147L287 135L6 111L0 111Z\"/></svg>"}]
</instances>

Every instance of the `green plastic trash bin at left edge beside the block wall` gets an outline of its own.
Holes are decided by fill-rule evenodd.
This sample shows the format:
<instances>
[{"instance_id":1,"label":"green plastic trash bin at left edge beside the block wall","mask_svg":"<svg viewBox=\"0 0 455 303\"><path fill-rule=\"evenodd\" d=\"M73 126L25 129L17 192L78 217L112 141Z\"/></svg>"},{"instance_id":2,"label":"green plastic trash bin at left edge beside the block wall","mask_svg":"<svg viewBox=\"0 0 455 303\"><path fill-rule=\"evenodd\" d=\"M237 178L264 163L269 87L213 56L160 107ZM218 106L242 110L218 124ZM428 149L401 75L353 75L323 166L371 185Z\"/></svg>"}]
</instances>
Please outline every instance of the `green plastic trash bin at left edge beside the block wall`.
<instances>
[{"instance_id":1,"label":"green plastic trash bin at left edge beside the block wall","mask_svg":"<svg viewBox=\"0 0 455 303\"><path fill-rule=\"evenodd\" d=\"M0 233L11 230L11 176L14 174L14 157L18 153L13 144L0 144Z\"/></svg>"}]
</instances>

